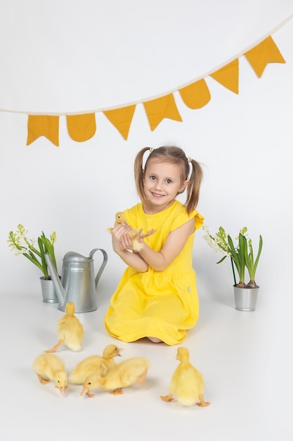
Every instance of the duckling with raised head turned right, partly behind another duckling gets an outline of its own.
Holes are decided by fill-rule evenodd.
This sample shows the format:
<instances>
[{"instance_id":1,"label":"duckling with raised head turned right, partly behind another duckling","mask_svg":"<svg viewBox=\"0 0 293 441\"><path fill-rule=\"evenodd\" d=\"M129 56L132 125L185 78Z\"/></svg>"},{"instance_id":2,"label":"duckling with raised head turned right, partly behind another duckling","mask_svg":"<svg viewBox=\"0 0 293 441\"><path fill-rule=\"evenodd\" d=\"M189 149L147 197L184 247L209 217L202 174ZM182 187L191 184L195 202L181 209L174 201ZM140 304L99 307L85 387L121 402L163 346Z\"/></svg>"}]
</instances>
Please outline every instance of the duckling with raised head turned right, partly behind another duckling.
<instances>
[{"instance_id":1,"label":"duckling with raised head turned right, partly behind another duckling","mask_svg":"<svg viewBox=\"0 0 293 441\"><path fill-rule=\"evenodd\" d=\"M103 350L103 356L91 355L82 360L72 369L68 376L68 383L72 385L82 385L90 373L100 373L105 375L108 369L115 366L115 356L121 356L119 347L115 344L108 344Z\"/></svg>"}]
</instances>

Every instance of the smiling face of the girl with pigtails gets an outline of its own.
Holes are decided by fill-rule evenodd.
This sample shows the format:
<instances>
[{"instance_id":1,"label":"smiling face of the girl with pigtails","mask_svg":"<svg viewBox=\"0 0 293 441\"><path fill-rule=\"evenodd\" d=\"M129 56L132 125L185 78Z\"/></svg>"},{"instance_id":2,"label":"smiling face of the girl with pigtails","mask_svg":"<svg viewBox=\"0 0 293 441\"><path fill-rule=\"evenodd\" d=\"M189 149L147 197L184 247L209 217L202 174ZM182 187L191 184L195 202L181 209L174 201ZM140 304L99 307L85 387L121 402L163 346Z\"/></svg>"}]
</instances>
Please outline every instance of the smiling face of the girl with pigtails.
<instances>
[{"instance_id":1,"label":"smiling face of the girl with pigtails","mask_svg":"<svg viewBox=\"0 0 293 441\"><path fill-rule=\"evenodd\" d=\"M182 167L175 163L148 161L145 168L144 190L147 205L158 213L173 203L177 194L183 192L188 180L182 180Z\"/></svg>"}]
</instances>

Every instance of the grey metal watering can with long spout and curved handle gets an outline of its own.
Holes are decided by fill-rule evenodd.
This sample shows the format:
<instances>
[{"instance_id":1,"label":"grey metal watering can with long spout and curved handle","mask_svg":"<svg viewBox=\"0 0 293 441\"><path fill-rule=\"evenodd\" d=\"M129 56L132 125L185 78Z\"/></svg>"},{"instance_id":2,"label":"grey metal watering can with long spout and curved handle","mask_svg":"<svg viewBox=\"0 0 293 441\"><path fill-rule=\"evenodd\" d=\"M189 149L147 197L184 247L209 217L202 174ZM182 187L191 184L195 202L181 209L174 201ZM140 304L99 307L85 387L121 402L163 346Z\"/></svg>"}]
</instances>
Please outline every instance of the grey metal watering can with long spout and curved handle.
<instances>
[{"instance_id":1,"label":"grey metal watering can with long spout and curved handle","mask_svg":"<svg viewBox=\"0 0 293 441\"><path fill-rule=\"evenodd\" d=\"M96 251L102 251L103 262L95 278L93 254ZM58 309L65 311L67 302L73 302L75 312L95 311L97 309L96 288L108 261L106 251L101 248L92 249L89 257L68 251L63 257L61 280L51 257L45 254L45 259L58 298Z\"/></svg>"}]
</instances>

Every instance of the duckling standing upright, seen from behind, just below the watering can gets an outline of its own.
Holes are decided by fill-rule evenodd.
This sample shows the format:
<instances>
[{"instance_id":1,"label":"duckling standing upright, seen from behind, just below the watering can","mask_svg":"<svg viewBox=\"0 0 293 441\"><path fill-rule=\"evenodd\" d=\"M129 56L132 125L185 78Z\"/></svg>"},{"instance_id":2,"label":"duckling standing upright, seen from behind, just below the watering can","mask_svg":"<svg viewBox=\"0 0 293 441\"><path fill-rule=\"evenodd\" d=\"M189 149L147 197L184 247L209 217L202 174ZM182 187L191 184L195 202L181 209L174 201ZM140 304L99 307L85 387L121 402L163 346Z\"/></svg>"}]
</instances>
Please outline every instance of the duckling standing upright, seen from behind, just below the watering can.
<instances>
[{"instance_id":1,"label":"duckling standing upright, seen from behind, just below the watering can","mask_svg":"<svg viewBox=\"0 0 293 441\"><path fill-rule=\"evenodd\" d=\"M67 302L65 306L65 316L58 320L57 336L58 343L46 349L44 352L56 352L61 344L65 344L72 351L80 351L82 347L82 338L84 337L84 328L79 319L74 316L75 305L73 302Z\"/></svg>"}]
</instances>

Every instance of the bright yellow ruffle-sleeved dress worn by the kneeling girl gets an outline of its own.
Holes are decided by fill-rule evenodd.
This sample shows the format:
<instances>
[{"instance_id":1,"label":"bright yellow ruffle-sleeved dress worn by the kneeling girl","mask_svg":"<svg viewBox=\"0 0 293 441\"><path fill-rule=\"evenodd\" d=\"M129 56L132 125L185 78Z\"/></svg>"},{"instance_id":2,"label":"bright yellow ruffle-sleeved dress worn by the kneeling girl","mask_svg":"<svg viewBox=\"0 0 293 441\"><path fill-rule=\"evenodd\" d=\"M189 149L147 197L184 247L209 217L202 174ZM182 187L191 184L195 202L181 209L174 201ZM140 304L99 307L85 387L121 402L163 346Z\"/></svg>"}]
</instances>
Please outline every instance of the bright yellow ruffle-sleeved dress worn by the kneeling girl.
<instances>
[{"instance_id":1,"label":"bright yellow ruffle-sleeved dress worn by the kneeling girl","mask_svg":"<svg viewBox=\"0 0 293 441\"><path fill-rule=\"evenodd\" d=\"M157 230L144 242L155 251L162 249L169 232L195 219L195 230L204 218L197 211L188 214L181 202L160 213L148 215L137 204L124 211L132 228ZM185 339L186 330L193 328L199 314L196 276L193 269L193 240L188 237L185 247L164 271L148 268L139 273L128 267L120 280L110 307L105 314L105 328L112 337L133 342L142 337L157 337L166 344L178 344Z\"/></svg>"}]
</instances>

